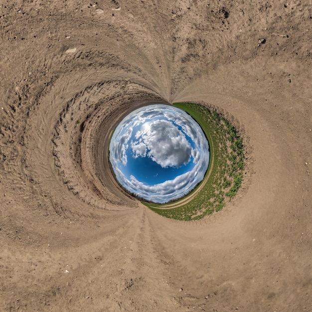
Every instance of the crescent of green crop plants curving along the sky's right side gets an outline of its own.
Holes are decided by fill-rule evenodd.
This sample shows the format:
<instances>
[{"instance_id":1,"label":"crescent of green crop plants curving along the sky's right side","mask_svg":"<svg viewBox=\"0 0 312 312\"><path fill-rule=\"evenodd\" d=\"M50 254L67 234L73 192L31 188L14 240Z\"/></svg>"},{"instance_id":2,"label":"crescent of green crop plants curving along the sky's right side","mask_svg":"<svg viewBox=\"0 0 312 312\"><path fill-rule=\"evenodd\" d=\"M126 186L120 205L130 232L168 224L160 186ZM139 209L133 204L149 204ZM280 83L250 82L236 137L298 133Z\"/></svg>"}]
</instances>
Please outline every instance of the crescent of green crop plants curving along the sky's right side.
<instances>
[{"instance_id":1,"label":"crescent of green crop plants curving along the sky's right side","mask_svg":"<svg viewBox=\"0 0 312 312\"><path fill-rule=\"evenodd\" d=\"M237 193L243 179L243 142L236 128L218 112L195 103L173 105L190 114L204 130L210 146L209 167L202 182L186 197L175 201L173 208L172 203L143 203L168 218L197 220L221 210ZM191 199L184 203L188 197Z\"/></svg>"}]
</instances>

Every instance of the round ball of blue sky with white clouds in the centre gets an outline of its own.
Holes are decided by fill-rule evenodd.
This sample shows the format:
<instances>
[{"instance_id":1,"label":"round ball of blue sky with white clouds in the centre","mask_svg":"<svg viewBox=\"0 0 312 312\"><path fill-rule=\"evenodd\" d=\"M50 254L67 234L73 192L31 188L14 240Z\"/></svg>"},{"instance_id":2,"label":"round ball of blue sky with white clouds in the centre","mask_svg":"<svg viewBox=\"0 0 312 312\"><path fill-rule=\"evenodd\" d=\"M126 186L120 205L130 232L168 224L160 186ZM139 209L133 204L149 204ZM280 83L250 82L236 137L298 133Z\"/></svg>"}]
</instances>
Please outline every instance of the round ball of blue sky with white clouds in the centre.
<instances>
[{"instance_id":1,"label":"round ball of blue sky with white clouds in the centre","mask_svg":"<svg viewBox=\"0 0 312 312\"><path fill-rule=\"evenodd\" d=\"M112 135L109 151L119 183L156 203L186 195L209 165L209 144L198 123L164 104L126 116Z\"/></svg>"}]
</instances>

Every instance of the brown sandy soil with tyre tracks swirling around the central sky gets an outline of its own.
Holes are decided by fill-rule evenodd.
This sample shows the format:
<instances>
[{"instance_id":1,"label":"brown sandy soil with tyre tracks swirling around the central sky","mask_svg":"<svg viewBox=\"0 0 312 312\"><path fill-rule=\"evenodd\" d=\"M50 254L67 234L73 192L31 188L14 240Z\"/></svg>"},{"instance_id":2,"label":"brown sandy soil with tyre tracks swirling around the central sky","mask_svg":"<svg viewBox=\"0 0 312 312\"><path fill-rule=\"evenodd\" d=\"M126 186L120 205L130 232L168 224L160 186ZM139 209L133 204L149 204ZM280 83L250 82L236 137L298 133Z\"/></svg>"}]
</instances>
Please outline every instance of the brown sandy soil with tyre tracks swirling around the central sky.
<instances>
[{"instance_id":1,"label":"brown sandy soil with tyre tracks swirling around the central sky","mask_svg":"<svg viewBox=\"0 0 312 312\"><path fill-rule=\"evenodd\" d=\"M0 0L0 311L312 311L312 1L91 4ZM106 173L148 101L240 125L222 211L166 219Z\"/></svg>"}]
</instances>

